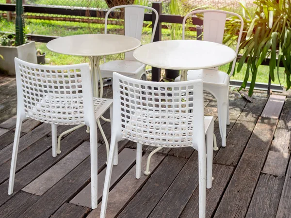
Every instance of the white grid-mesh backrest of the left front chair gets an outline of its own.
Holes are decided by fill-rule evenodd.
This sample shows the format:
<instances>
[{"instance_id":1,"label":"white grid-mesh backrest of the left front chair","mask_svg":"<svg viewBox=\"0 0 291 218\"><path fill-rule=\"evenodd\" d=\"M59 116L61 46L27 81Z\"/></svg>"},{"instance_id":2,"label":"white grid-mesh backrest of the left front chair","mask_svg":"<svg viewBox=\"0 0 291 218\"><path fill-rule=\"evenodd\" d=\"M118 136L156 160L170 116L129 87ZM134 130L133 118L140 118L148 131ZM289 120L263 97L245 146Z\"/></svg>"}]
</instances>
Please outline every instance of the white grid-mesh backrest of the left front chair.
<instances>
[{"instance_id":1,"label":"white grid-mesh backrest of the left front chair","mask_svg":"<svg viewBox=\"0 0 291 218\"><path fill-rule=\"evenodd\" d=\"M15 69L20 116L57 125L95 121L88 63L48 66L15 58Z\"/></svg>"}]
</instances>

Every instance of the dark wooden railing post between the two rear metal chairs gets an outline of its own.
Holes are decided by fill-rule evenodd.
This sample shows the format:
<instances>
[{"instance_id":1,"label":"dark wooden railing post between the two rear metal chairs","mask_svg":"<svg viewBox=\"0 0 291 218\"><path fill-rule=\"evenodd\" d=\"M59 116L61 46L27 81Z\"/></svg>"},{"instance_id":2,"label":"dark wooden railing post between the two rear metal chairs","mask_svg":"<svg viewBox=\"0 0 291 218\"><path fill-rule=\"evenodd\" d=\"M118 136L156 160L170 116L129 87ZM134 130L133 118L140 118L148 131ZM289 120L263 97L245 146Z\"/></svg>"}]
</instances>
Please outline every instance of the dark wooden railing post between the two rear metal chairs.
<instances>
[{"instance_id":1,"label":"dark wooden railing post between the two rear metal chairs","mask_svg":"<svg viewBox=\"0 0 291 218\"><path fill-rule=\"evenodd\" d=\"M162 2L153 2L152 7L157 10L159 16L162 14ZM152 22L154 24L156 20L156 14L152 13ZM154 25L152 25L153 27ZM160 17L157 25L157 29L154 36L154 42L162 40L162 23L160 22ZM160 81L161 79L161 69L152 67L152 81Z\"/></svg>"}]
</instances>

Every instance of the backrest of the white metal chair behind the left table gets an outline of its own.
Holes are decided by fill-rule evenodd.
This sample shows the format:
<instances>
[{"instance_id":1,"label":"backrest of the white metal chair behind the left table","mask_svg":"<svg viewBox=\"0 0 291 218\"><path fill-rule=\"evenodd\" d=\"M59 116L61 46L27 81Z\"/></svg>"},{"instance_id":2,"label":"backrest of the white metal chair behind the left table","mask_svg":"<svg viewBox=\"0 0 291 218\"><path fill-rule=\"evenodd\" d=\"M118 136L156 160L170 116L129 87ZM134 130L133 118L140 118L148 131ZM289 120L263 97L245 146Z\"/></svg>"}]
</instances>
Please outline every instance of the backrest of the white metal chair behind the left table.
<instances>
[{"instance_id":1,"label":"backrest of the white metal chair behind the left table","mask_svg":"<svg viewBox=\"0 0 291 218\"><path fill-rule=\"evenodd\" d=\"M142 38L142 29L143 29L143 23L144 23L144 16L145 16L145 9L151 10L152 13L156 14L156 20L155 23L153 24L153 32L152 32L152 37L151 41L153 42L155 32L157 29L158 25L158 20L159 20L159 14L156 11L156 9L143 6L143 5L120 5L120 6L115 6L110 8L105 16L105 31L104 33L107 34L107 22L108 22L108 16L109 14L119 8L124 8L124 34L126 36L131 36L134 37L138 40L141 40ZM125 53L125 60L129 61L135 61L133 55L133 51L129 51Z\"/></svg>"}]
</instances>

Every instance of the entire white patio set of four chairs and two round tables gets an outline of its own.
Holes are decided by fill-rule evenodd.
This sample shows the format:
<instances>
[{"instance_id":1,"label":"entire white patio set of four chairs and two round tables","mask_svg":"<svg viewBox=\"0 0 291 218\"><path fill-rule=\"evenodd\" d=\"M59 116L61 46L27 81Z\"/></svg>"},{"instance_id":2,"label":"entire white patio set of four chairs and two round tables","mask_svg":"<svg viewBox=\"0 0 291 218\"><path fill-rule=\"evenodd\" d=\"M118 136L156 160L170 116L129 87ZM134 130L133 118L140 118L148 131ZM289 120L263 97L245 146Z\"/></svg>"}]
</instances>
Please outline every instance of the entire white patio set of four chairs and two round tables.
<instances>
[{"instance_id":1,"label":"entire white patio set of four chairs and two round tables","mask_svg":"<svg viewBox=\"0 0 291 218\"><path fill-rule=\"evenodd\" d=\"M106 34L110 12L121 8L125 12L125 36ZM151 43L140 47L146 9L156 14L156 20ZM117 142L124 139L137 143L137 179L141 177L143 144L157 147L148 157L145 174L149 174L151 156L163 147L193 147L197 150L199 218L205 218L206 187L210 188L212 185L214 120L213 117L204 116L203 90L209 91L217 99L222 146L226 146L229 76L218 71L217 67L236 60L238 46L234 51L222 45L222 38L226 14L238 15L219 10L191 12L183 20L183 39L186 18L197 13L204 13L206 42L172 40L152 43L159 18L157 11L146 6L123 5L113 7L107 12L105 34L67 36L47 44L51 51L57 53L89 57L91 69L88 63L48 66L16 58L17 119L8 194L13 193L20 129L25 118L51 124L52 156L61 152L62 135L87 125L91 149L91 202L92 208L97 208L98 124L108 155L101 218L106 215L112 168L118 164ZM238 17L243 26L242 18ZM241 35L242 28L238 45ZM124 60L99 64L101 56L124 52ZM181 70L181 77L172 83L145 81L146 65ZM102 98L103 78L113 78L113 99ZM110 120L102 116L109 108ZM111 121L110 150L99 122L100 118ZM57 125L78 126L63 133L57 143ZM215 143L214 146L217 148Z\"/></svg>"}]
</instances>

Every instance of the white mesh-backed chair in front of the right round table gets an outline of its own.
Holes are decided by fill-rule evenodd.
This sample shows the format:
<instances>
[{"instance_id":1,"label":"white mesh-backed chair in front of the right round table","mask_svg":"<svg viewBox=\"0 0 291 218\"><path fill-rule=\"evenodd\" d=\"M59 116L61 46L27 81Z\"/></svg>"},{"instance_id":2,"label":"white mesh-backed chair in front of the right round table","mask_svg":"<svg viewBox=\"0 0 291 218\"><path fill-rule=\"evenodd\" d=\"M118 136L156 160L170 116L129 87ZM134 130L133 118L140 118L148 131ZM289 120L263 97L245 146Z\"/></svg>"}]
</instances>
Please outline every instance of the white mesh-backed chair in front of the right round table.
<instances>
[{"instance_id":1,"label":"white mesh-backed chair in front of the right round table","mask_svg":"<svg viewBox=\"0 0 291 218\"><path fill-rule=\"evenodd\" d=\"M198 151L199 218L205 217L206 186L212 185L213 117L204 117L201 79L175 83L137 80L113 73L113 126L100 218L105 218L117 142L137 143L136 178L142 145ZM205 134L207 145L205 148ZM206 165L207 151L207 165Z\"/></svg>"}]
</instances>

